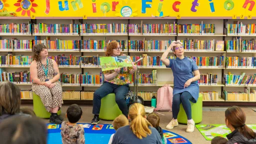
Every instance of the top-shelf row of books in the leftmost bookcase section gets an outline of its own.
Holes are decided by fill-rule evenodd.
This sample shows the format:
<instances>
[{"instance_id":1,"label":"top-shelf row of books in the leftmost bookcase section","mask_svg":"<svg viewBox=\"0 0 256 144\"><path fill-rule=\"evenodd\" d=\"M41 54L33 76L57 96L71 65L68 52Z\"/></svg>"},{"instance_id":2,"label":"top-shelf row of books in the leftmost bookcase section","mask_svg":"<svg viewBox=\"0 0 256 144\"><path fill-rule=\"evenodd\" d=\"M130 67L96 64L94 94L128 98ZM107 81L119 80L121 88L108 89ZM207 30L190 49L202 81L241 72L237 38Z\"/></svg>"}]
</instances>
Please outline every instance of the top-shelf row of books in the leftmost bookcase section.
<instances>
[{"instance_id":1,"label":"top-shelf row of books in the leftmost bookcase section","mask_svg":"<svg viewBox=\"0 0 256 144\"><path fill-rule=\"evenodd\" d=\"M9 23L9 24L0 24L0 34L31 34L32 24L28 23Z\"/></svg>"}]
</instances>

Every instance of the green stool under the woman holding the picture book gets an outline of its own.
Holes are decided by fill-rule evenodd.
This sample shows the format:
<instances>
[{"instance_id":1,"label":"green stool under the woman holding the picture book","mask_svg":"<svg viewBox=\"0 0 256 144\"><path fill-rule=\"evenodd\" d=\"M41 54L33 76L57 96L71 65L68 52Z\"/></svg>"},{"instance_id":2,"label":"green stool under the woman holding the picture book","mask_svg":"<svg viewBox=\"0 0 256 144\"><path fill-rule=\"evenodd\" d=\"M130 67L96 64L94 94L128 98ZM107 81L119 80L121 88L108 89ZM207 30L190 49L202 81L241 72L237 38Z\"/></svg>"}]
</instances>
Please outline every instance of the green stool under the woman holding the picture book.
<instances>
[{"instance_id":1,"label":"green stool under the woman holding the picture book","mask_svg":"<svg viewBox=\"0 0 256 144\"><path fill-rule=\"evenodd\" d=\"M101 106L99 111L99 118L105 120L114 120L115 117L122 114L118 105L115 102L115 94L109 93L101 98Z\"/></svg>"}]
</instances>

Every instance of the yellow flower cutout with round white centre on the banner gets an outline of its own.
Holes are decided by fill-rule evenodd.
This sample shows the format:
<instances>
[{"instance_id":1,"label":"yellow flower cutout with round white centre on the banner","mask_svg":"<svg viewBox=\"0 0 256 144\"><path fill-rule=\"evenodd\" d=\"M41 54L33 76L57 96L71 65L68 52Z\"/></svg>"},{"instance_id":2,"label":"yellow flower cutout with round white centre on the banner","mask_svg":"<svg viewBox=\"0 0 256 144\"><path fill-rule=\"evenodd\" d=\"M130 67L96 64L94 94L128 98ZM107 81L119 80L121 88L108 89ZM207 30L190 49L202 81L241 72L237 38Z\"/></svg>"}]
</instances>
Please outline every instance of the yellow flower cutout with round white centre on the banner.
<instances>
[{"instance_id":1,"label":"yellow flower cutout with round white centre on the banner","mask_svg":"<svg viewBox=\"0 0 256 144\"><path fill-rule=\"evenodd\" d=\"M130 3L130 0L122 0L122 2L119 1L119 3L115 7L115 16L123 16L123 17L132 17L138 15L136 13L137 8L135 6L135 3Z\"/></svg>"}]
</instances>

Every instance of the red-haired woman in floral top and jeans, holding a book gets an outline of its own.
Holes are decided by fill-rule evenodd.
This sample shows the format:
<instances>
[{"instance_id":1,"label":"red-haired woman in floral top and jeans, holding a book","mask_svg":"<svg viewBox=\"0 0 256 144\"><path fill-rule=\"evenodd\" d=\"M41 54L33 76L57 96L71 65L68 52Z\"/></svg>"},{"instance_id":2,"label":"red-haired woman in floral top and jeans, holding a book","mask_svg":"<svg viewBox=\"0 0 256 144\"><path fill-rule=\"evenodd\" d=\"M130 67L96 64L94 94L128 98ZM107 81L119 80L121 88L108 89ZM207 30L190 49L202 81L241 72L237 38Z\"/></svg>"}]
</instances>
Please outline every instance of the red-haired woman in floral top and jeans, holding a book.
<instances>
[{"instance_id":1,"label":"red-haired woman in floral top and jeans, holding a book","mask_svg":"<svg viewBox=\"0 0 256 144\"><path fill-rule=\"evenodd\" d=\"M111 41L106 47L106 56L118 56L122 55L119 43ZM93 93L93 109L94 114L91 124L97 124L99 122L99 109L101 105L101 98L109 93L115 93L115 101L126 117L128 115L127 104L124 97L128 93L130 83L129 74L132 74L137 69L136 65L132 67L116 68L114 70L106 70L104 73L104 83Z\"/></svg>"}]
</instances>

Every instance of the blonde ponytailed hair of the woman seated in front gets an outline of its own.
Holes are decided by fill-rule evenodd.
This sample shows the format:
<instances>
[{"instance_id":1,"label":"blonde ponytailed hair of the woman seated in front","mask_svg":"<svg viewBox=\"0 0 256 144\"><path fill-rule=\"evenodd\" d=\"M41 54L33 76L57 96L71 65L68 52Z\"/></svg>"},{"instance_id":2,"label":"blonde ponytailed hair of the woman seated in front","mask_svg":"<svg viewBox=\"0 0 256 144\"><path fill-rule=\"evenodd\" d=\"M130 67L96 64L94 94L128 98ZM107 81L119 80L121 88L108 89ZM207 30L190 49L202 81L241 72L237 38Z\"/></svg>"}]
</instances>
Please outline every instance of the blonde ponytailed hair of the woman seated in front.
<instances>
[{"instance_id":1,"label":"blonde ponytailed hair of the woman seated in front","mask_svg":"<svg viewBox=\"0 0 256 144\"><path fill-rule=\"evenodd\" d=\"M130 129L139 139L142 139L142 137L146 137L152 133L151 129L148 128L148 126L152 125L145 118L146 113L142 104L132 104L128 115L131 119Z\"/></svg>"}]
</instances>

